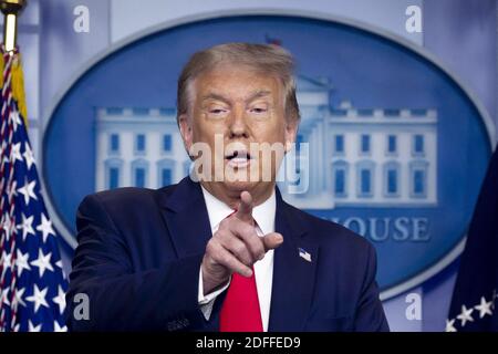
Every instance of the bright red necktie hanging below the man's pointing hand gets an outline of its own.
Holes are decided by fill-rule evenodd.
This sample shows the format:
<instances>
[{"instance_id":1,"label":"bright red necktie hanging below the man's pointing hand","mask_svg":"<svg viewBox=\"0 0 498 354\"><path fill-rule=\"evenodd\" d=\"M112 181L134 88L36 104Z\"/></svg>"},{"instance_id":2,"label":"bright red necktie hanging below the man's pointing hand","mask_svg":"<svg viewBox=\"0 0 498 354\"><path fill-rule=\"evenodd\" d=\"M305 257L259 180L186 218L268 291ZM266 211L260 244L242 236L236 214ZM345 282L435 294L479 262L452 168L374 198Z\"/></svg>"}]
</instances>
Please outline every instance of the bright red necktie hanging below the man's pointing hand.
<instances>
[{"instance_id":1,"label":"bright red necktie hanging below the man's pointing hand","mask_svg":"<svg viewBox=\"0 0 498 354\"><path fill-rule=\"evenodd\" d=\"M219 315L220 332L262 332L255 268L250 278L231 275Z\"/></svg>"}]
</instances>

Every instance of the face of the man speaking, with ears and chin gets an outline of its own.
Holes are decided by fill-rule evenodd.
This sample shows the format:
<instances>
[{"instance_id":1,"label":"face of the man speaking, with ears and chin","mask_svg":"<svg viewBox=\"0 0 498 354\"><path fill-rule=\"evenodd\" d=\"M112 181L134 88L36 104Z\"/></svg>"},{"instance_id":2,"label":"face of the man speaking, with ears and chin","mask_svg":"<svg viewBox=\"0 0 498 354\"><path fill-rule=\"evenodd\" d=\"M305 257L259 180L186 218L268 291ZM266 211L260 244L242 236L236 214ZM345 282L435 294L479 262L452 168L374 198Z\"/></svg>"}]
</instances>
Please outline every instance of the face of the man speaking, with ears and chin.
<instances>
[{"instance_id":1,"label":"face of the man speaking, with ears and chin","mask_svg":"<svg viewBox=\"0 0 498 354\"><path fill-rule=\"evenodd\" d=\"M286 119L280 81L245 66L219 65L193 86L190 116L180 117L180 129L189 150L199 142L210 148L212 178L203 185L219 197L271 192L283 154L262 158L253 147L277 143L283 152L294 142L297 124Z\"/></svg>"}]
</instances>

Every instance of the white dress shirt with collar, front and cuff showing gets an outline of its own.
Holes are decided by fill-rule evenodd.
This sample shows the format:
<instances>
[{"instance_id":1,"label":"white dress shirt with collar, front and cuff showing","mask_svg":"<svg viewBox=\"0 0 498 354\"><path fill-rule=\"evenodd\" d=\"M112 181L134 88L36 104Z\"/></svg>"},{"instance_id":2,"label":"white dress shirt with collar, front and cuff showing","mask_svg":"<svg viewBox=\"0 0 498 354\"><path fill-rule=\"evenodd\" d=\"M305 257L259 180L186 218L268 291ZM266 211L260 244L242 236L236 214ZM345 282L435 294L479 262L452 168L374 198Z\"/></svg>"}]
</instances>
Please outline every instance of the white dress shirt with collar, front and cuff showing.
<instances>
[{"instance_id":1,"label":"white dress shirt with collar, front and cuff showing","mask_svg":"<svg viewBox=\"0 0 498 354\"><path fill-rule=\"evenodd\" d=\"M225 202L212 196L204 187L203 195L206 202L206 208L209 216L209 223L211 226L212 235L218 230L219 223L226 217L234 212L234 210ZM258 236L263 236L269 232L274 232L274 214L276 214L276 196L274 191L271 197L264 200L259 206L252 209L252 217L256 221L256 231ZM261 310L261 320L263 331L268 331L268 320L270 317L270 301L271 301L271 283L273 279L273 250L269 250L264 258L255 263L256 287L258 290L259 308ZM231 279L231 278L230 278ZM206 296L203 289L203 270L199 271L199 295L198 301L200 310L206 320L211 315L212 304L216 296L227 290L230 281L221 289L214 291Z\"/></svg>"}]
</instances>

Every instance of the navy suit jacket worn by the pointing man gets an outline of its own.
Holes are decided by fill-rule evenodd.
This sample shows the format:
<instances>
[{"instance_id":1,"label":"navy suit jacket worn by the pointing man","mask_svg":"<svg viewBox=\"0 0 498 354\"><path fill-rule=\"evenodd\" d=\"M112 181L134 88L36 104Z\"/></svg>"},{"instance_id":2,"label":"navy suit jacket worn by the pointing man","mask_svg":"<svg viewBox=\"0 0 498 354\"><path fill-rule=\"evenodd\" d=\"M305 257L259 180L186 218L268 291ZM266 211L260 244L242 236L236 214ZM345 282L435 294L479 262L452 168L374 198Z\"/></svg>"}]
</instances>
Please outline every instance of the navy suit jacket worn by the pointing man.
<instances>
[{"instance_id":1,"label":"navy suit jacket worn by the pointing man","mask_svg":"<svg viewBox=\"0 0 498 354\"><path fill-rule=\"evenodd\" d=\"M72 331L217 331L198 305L199 269L211 228L200 185L121 188L84 198L66 294ZM334 222L282 200L277 189L269 331L388 331L375 282L374 248ZM301 248L311 262L299 256ZM76 320L77 293L90 300Z\"/></svg>"}]
</instances>

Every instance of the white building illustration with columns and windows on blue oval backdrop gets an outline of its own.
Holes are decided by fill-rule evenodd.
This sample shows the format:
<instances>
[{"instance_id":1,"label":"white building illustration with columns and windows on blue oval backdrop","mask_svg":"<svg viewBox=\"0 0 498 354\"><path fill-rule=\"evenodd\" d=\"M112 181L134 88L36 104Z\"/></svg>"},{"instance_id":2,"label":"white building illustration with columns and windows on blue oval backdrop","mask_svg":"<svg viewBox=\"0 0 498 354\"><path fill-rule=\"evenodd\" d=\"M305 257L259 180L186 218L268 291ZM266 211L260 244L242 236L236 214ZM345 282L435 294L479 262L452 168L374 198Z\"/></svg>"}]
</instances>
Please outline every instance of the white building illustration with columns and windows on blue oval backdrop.
<instances>
[{"instance_id":1,"label":"white building illustration with columns and windows on blue oval backdrop","mask_svg":"<svg viewBox=\"0 0 498 354\"><path fill-rule=\"evenodd\" d=\"M284 199L304 209L436 206L437 112L332 106L330 96L326 80L298 76L298 143L309 143L309 154L298 148L297 168L308 166L309 188L290 194L281 183ZM98 108L95 163L97 190L179 181L190 160L176 111Z\"/></svg>"}]
</instances>

